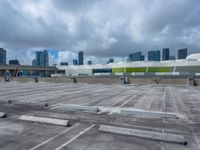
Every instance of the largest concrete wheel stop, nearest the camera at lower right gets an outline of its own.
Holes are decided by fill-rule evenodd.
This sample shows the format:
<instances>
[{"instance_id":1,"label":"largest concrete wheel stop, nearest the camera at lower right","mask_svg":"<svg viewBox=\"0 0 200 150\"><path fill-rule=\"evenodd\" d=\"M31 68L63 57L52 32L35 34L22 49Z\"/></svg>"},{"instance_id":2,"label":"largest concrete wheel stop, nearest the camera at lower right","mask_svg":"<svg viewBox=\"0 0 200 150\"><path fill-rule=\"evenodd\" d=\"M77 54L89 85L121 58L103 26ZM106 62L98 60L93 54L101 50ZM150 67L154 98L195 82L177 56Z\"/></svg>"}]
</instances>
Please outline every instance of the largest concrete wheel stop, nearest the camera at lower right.
<instances>
[{"instance_id":1,"label":"largest concrete wheel stop, nearest the camera at lower right","mask_svg":"<svg viewBox=\"0 0 200 150\"><path fill-rule=\"evenodd\" d=\"M106 125L101 125L99 127L99 131L121 134L121 135L130 135L130 136L135 136L139 138L159 141L159 142L168 142L168 143L177 143L177 144L187 145L187 141L185 140L183 135L136 130L136 129L121 128L121 127L106 126Z\"/></svg>"}]
</instances>

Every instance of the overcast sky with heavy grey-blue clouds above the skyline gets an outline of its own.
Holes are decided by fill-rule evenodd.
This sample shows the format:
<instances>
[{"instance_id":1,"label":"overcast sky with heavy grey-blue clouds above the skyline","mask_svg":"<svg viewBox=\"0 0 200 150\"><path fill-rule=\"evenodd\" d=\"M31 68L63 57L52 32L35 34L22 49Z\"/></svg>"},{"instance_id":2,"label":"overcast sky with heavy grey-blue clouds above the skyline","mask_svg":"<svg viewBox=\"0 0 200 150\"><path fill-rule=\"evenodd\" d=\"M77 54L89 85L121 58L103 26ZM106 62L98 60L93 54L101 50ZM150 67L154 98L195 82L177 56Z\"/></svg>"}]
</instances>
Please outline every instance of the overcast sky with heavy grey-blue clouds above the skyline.
<instances>
[{"instance_id":1,"label":"overcast sky with heavy grey-blue clouds above the skyline","mask_svg":"<svg viewBox=\"0 0 200 150\"><path fill-rule=\"evenodd\" d=\"M51 64L80 50L97 63L165 47L200 52L200 0L0 0L0 47L22 64L49 48L59 50Z\"/></svg>"}]
</instances>

